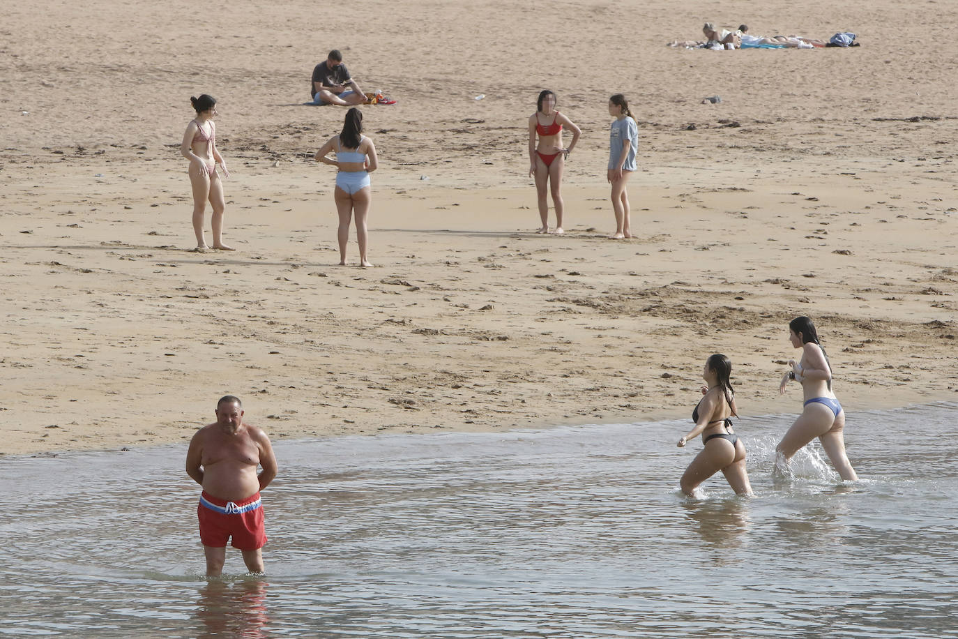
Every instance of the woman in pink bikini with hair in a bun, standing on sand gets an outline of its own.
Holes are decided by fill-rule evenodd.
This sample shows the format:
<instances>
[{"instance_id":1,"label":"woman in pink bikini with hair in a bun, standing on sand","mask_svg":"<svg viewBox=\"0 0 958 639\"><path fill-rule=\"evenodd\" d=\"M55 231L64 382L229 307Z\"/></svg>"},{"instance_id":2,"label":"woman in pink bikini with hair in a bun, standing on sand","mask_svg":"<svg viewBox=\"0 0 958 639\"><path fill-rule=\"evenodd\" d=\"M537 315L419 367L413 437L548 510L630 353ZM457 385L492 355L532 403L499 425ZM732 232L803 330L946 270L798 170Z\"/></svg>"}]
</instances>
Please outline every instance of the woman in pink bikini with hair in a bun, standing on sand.
<instances>
[{"instance_id":1,"label":"woman in pink bikini with hair in a bun, standing on sand","mask_svg":"<svg viewBox=\"0 0 958 639\"><path fill-rule=\"evenodd\" d=\"M190 98L196 109L196 118L190 121L183 134L180 152L190 160L190 183L193 185L193 230L196 234L196 249L210 248L203 236L203 213L206 200L213 205L213 248L232 251L232 247L223 243L223 213L226 201L223 198L223 182L217 173L217 164L223 170L223 177L229 177L223 156L217 150L217 126L213 116L217 114L217 101L205 93L199 98Z\"/></svg>"}]
</instances>

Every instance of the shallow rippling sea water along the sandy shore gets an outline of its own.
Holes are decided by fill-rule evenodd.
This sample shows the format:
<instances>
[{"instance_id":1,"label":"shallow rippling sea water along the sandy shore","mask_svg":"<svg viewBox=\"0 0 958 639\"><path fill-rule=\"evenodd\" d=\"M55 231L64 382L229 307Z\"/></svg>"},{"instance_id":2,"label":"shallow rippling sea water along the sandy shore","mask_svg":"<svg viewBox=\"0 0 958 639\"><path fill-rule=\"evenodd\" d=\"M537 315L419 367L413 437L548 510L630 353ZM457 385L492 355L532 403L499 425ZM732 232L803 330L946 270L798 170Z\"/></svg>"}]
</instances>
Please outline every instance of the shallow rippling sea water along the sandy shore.
<instances>
[{"instance_id":1,"label":"shallow rippling sea water along the sandy shore","mask_svg":"<svg viewBox=\"0 0 958 639\"><path fill-rule=\"evenodd\" d=\"M743 419L752 498L678 491L690 422L280 442L267 574L213 582L185 444L0 457L0 636L958 636L956 417L849 414L851 483Z\"/></svg>"}]
</instances>

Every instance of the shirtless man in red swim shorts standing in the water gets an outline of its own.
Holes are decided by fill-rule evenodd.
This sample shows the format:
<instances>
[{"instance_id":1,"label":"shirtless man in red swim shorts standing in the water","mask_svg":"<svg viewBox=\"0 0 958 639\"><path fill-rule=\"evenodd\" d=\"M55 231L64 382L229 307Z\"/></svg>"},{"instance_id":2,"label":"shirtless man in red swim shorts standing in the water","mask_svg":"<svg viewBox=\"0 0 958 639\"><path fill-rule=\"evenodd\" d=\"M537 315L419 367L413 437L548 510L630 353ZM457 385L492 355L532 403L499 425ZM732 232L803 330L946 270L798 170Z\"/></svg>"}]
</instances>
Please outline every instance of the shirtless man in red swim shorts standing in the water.
<instances>
[{"instance_id":1,"label":"shirtless man in red swim shorts standing in the water","mask_svg":"<svg viewBox=\"0 0 958 639\"><path fill-rule=\"evenodd\" d=\"M239 398L219 399L216 414L216 422L196 431L186 455L187 474L203 487L196 514L206 576L222 573L230 537L246 568L262 573L266 530L260 491L276 477L276 456L262 428L242 421Z\"/></svg>"}]
</instances>

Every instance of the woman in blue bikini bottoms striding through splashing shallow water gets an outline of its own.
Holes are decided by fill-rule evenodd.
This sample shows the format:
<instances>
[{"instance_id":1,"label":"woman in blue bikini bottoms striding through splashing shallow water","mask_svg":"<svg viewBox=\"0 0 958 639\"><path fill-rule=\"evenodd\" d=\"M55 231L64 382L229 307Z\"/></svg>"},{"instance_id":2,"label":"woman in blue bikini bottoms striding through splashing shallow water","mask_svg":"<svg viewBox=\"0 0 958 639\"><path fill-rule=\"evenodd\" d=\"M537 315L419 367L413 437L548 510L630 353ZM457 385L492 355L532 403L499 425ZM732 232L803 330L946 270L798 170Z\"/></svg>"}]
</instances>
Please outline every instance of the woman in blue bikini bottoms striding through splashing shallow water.
<instances>
[{"instance_id":1,"label":"woman in blue bikini bottoms striding through splashing shallow water","mask_svg":"<svg viewBox=\"0 0 958 639\"><path fill-rule=\"evenodd\" d=\"M779 392L785 393L789 380L800 382L805 408L775 449L775 466L779 470L786 469L788 460L798 449L817 437L841 478L857 479L855 468L852 468L845 454L845 437L842 433L845 411L832 392L832 367L818 341L815 326L808 317L796 317L788 324L788 332L792 347L802 349L802 358L797 362L788 360L791 371L782 377Z\"/></svg>"}]
</instances>

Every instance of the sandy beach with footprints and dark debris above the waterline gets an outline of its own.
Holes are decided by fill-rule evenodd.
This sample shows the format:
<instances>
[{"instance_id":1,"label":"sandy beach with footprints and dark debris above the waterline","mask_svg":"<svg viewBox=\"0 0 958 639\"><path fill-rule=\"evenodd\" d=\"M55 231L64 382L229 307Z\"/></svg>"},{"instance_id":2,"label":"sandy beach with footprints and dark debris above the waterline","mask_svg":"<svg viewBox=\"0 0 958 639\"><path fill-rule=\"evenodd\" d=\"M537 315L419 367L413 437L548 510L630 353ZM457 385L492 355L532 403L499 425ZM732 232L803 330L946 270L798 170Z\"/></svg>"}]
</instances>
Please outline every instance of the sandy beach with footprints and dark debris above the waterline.
<instances>
[{"instance_id":1,"label":"sandy beach with footprints and dark debris above the waterline","mask_svg":"<svg viewBox=\"0 0 958 639\"><path fill-rule=\"evenodd\" d=\"M923 37L958 9L357 7L8 10L0 451L187 440L227 393L274 439L678 418L712 353L732 359L743 413L797 412L778 381L800 314L848 410L958 398L958 42ZM705 20L862 46L665 46ZM621 46L619 27L634 34ZM302 104L331 48L399 101L363 107L374 268L336 265L333 173L311 161L344 114ZM525 123L541 88L583 130L563 237L533 233ZM620 91L640 132L627 241L605 239ZM179 142L203 92L219 100L236 253L188 250Z\"/></svg>"}]
</instances>

